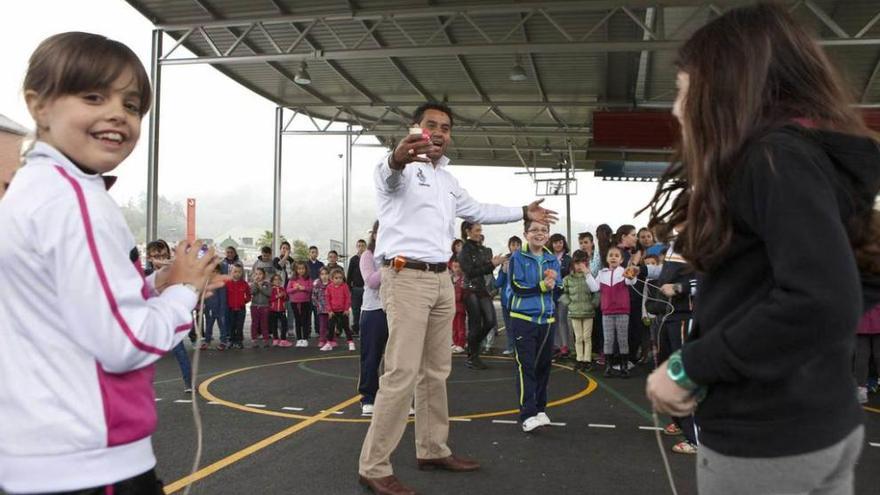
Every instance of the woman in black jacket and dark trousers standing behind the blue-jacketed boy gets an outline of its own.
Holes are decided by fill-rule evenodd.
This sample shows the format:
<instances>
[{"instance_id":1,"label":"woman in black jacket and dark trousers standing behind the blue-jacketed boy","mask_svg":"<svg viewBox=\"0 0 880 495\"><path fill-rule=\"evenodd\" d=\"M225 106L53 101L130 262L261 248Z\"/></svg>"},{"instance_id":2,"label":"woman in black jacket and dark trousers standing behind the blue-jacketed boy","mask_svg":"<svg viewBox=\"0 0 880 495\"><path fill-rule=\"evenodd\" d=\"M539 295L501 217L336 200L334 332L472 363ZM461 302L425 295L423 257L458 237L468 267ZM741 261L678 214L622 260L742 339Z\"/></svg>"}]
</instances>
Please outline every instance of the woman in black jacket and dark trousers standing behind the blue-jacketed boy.
<instances>
[{"instance_id":1,"label":"woman in black jacket and dark trousers standing behind the blue-jacketed boy","mask_svg":"<svg viewBox=\"0 0 880 495\"><path fill-rule=\"evenodd\" d=\"M480 343L495 328L497 319L486 275L491 275L504 261L503 256L492 256L492 250L482 245L482 234L482 225L461 223L461 236L465 241L458 261L465 277L464 300L468 313L468 359L465 364L478 370L486 369L480 359Z\"/></svg>"}]
</instances>

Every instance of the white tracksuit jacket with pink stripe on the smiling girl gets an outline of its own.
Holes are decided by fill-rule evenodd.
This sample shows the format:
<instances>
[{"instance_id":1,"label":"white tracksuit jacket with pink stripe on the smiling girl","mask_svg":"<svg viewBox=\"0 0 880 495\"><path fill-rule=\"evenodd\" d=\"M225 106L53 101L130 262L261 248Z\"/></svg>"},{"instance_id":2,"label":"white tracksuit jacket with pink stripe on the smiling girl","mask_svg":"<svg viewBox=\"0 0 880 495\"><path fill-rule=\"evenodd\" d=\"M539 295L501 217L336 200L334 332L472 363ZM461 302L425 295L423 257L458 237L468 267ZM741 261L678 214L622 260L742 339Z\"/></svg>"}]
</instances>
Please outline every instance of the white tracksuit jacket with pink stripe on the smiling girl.
<instances>
[{"instance_id":1,"label":"white tracksuit jacket with pink stripe on the smiling girl","mask_svg":"<svg viewBox=\"0 0 880 495\"><path fill-rule=\"evenodd\" d=\"M153 362L196 294L156 294L100 175L37 143L0 201L0 488L77 490L156 464Z\"/></svg>"}]
</instances>

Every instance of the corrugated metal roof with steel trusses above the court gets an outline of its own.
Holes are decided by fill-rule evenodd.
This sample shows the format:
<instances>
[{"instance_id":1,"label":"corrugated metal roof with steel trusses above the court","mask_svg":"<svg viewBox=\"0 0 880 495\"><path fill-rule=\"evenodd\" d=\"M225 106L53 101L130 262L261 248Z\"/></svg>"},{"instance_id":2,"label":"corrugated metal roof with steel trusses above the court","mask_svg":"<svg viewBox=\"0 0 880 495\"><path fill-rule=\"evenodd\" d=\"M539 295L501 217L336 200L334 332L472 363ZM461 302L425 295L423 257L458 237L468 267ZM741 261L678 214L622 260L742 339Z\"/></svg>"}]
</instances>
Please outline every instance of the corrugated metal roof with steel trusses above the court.
<instances>
[{"instance_id":1,"label":"corrugated metal roof with steel trusses above the court","mask_svg":"<svg viewBox=\"0 0 880 495\"><path fill-rule=\"evenodd\" d=\"M175 40L186 37L184 46L196 56L214 57L219 70L279 105L323 119L341 108L340 121L369 125L381 119L375 123L393 128L425 99L446 100L457 131L474 131L457 137L456 153L473 163L518 163L516 144L539 166L555 165L556 153L567 150L566 137L587 157L583 147L595 109L670 106L678 42L725 8L750 3L126 1ZM880 19L876 0L790 4L826 39L843 38L840 31L860 41L880 38L880 22L869 23ZM649 35L643 27L652 18ZM880 104L880 43L828 53L863 102ZM163 63L183 63L180 57L166 56ZM308 64L308 86L293 81L301 60ZM514 64L527 74L525 81L511 81ZM505 129L507 135L495 134ZM380 138L390 142L402 132ZM542 157L537 151L547 141L554 156Z\"/></svg>"}]
</instances>

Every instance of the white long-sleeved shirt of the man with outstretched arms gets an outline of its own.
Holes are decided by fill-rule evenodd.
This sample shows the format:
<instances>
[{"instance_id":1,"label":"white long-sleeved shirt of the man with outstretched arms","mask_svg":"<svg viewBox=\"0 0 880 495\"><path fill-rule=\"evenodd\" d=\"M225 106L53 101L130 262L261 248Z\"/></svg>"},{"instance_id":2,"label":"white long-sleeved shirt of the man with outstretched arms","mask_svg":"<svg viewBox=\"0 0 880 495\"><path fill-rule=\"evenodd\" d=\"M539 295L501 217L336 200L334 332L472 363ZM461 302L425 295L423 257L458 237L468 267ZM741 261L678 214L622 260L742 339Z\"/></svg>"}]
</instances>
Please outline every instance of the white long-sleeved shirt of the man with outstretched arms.
<instances>
[{"instance_id":1,"label":"white long-sleeved shirt of the man with outstretched arms","mask_svg":"<svg viewBox=\"0 0 880 495\"><path fill-rule=\"evenodd\" d=\"M376 167L379 232L376 259L405 256L428 263L445 263L452 254L455 218L482 224L522 220L522 206L498 206L475 201L449 173L449 158L436 165L413 162L392 170L386 155Z\"/></svg>"}]
</instances>

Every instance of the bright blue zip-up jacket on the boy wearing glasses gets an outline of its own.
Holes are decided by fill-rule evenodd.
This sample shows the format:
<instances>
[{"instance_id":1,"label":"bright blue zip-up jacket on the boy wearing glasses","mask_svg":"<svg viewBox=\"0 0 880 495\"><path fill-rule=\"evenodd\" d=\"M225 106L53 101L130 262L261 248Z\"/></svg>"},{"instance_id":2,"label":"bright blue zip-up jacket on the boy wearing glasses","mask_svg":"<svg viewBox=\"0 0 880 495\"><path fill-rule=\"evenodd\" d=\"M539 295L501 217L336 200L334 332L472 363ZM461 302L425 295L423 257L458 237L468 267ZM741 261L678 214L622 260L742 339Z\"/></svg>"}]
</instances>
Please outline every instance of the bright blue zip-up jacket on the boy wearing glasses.
<instances>
[{"instance_id":1,"label":"bright blue zip-up jacket on the boy wearing glasses","mask_svg":"<svg viewBox=\"0 0 880 495\"><path fill-rule=\"evenodd\" d=\"M556 321L553 291L544 285L544 270L556 271L556 283L562 284L559 260L546 247L542 256L535 256L528 245L510 257L511 318L546 324Z\"/></svg>"}]
</instances>

